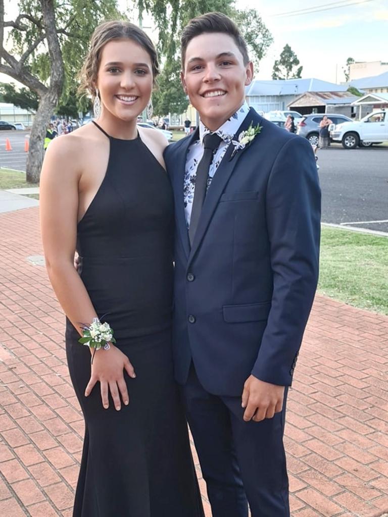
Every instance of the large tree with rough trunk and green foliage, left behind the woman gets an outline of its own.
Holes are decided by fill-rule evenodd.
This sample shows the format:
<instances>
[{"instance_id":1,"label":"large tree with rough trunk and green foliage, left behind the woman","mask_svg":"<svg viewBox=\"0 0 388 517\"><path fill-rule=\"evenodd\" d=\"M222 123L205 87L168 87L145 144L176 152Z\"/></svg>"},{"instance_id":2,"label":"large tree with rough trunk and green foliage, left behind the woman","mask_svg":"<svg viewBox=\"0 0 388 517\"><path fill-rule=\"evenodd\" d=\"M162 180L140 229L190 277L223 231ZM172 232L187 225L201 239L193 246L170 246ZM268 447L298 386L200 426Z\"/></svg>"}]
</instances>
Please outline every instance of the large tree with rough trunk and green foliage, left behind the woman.
<instances>
[{"instance_id":1,"label":"large tree with rough trunk and green foliage, left behind the woman","mask_svg":"<svg viewBox=\"0 0 388 517\"><path fill-rule=\"evenodd\" d=\"M39 98L26 169L27 181L37 183L50 117L62 93L74 85L94 28L118 12L116 0L19 0L18 11L16 19L7 20L0 0L0 72Z\"/></svg>"}]
</instances>

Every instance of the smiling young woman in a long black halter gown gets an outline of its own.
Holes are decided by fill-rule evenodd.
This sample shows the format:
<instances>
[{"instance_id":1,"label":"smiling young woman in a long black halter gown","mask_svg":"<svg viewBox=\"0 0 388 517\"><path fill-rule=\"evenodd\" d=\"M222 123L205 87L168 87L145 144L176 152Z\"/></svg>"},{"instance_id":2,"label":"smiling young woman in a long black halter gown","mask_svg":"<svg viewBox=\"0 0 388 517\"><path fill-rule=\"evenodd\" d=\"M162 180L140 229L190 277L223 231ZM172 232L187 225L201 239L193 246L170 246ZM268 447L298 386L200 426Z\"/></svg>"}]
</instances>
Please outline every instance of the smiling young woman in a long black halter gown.
<instances>
[{"instance_id":1,"label":"smiling young woman in a long black halter gown","mask_svg":"<svg viewBox=\"0 0 388 517\"><path fill-rule=\"evenodd\" d=\"M172 372L167 141L136 125L157 73L141 29L100 25L83 84L101 114L55 139L41 174L44 253L67 316L69 370L86 427L74 517L203 515ZM116 344L99 349L91 365L92 349L78 340L95 317L109 323Z\"/></svg>"}]
</instances>

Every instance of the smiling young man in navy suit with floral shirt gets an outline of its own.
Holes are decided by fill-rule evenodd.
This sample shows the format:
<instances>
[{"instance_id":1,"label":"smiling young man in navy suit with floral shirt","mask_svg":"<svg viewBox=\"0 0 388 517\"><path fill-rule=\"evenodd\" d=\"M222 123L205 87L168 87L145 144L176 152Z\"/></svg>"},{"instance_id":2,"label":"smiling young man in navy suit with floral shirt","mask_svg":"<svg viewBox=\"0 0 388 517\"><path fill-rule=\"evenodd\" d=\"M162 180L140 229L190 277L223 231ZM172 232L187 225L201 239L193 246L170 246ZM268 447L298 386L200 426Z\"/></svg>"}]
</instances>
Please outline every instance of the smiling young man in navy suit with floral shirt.
<instances>
[{"instance_id":1,"label":"smiling young man in navy suit with floral shirt","mask_svg":"<svg viewBox=\"0 0 388 517\"><path fill-rule=\"evenodd\" d=\"M213 517L289 517L283 430L318 279L307 140L245 102L245 41L220 13L182 35L201 122L165 151L175 198L174 363Z\"/></svg>"}]
</instances>

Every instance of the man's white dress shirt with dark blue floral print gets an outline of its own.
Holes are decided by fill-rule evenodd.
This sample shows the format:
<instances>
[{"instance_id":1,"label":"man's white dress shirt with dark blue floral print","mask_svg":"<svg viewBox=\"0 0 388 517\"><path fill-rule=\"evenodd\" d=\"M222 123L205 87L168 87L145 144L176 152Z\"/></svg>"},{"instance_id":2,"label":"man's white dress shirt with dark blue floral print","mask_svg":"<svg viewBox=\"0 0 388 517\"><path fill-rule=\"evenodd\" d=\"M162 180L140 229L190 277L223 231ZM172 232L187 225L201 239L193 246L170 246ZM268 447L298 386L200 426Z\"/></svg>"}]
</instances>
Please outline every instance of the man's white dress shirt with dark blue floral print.
<instances>
[{"instance_id":1,"label":"man's white dress shirt with dark blue floral print","mask_svg":"<svg viewBox=\"0 0 388 517\"><path fill-rule=\"evenodd\" d=\"M213 161L210 164L209 174L207 178L207 188L210 187L212 179L221 163L222 158L231 143L233 136L236 134L238 128L243 123L243 120L249 112L248 104L245 102L240 109L236 111L228 120L222 124L217 131L218 136L222 139L218 148L214 151ZM203 138L206 134L211 133L200 121L199 123L199 140L196 140L187 150L185 179L184 179L184 204L187 228L190 225L192 201L194 199L194 189L196 186L197 168L203 156Z\"/></svg>"}]
</instances>

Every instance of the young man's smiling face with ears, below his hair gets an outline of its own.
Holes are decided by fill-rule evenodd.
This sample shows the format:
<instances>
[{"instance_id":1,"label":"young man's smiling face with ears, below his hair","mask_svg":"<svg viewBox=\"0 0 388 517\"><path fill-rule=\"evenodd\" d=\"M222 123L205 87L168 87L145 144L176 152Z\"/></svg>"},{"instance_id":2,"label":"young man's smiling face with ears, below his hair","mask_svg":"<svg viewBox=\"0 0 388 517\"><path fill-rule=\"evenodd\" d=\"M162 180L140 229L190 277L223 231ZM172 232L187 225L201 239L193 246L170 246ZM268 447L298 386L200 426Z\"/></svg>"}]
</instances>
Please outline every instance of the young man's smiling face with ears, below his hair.
<instances>
[{"instance_id":1,"label":"young man's smiling face with ears, below his hair","mask_svg":"<svg viewBox=\"0 0 388 517\"><path fill-rule=\"evenodd\" d=\"M204 33L189 41L182 84L203 124L215 131L244 103L252 63L244 65L234 39L225 33Z\"/></svg>"}]
</instances>

